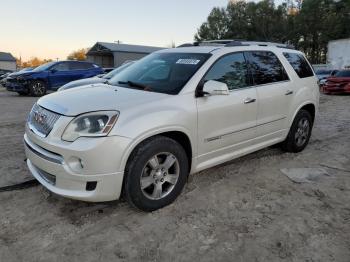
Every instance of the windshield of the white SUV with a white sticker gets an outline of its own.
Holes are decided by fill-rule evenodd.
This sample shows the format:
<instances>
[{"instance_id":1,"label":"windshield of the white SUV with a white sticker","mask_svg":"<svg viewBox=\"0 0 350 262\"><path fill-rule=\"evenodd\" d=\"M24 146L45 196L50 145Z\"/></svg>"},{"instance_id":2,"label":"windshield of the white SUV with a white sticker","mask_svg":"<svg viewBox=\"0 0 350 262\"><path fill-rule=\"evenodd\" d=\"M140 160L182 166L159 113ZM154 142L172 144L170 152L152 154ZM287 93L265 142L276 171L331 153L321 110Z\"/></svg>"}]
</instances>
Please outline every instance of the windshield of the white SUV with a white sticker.
<instances>
[{"instance_id":1,"label":"windshield of the white SUV with a white sticker","mask_svg":"<svg viewBox=\"0 0 350 262\"><path fill-rule=\"evenodd\" d=\"M178 94L210 56L200 53L153 53L114 76L109 83Z\"/></svg>"}]
</instances>

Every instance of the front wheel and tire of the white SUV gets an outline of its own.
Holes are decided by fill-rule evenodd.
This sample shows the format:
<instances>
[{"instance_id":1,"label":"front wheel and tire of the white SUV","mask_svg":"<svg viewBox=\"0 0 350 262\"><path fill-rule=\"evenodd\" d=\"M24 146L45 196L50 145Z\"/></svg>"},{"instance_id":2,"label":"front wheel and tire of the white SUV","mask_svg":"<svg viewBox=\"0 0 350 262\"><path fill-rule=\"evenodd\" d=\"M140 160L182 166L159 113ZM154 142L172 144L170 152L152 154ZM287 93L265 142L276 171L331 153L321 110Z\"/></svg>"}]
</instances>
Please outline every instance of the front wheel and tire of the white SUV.
<instances>
[{"instance_id":1,"label":"front wheel and tire of the white SUV","mask_svg":"<svg viewBox=\"0 0 350 262\"><path fill-rule=\"evenodd\" d=\"M147 212L167 206L181 193L188 172L187 155L179 143L163 136L147 139L137 146L126 165L125 198Z\"/></svg>"}]
</instances>

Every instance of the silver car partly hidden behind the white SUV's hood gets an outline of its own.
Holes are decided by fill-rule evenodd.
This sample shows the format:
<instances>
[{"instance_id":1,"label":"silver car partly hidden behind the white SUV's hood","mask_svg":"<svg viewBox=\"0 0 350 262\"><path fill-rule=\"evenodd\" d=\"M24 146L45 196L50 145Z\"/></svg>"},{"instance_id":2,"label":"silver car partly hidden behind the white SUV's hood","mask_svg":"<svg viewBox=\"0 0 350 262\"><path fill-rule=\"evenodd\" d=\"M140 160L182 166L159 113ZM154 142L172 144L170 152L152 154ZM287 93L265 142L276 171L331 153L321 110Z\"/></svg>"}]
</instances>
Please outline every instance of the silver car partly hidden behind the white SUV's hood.
<instances>
[{"instance_id":1,"label":"silver car partly hidden behind the white SUV's hood","mask_svg":"<svg viewBox=\"0 0 350 262\"><path fill-rule=\"evenodd\" d=\"M57 91L63 91L63 90L71 89L73 87L84 86L84 85L106 83L109 79L111 79L112 77L114 77L115 75L123 71L125 68L128 68L134 62L135 61L131 61L126 64L123 64L118 68L115 68L114 70L110 71L108 74L98 75L95 77L90 77L86 79L80 79L80 80L69 82L64 86L60 87Z\"/></svg>"}]
</instances>

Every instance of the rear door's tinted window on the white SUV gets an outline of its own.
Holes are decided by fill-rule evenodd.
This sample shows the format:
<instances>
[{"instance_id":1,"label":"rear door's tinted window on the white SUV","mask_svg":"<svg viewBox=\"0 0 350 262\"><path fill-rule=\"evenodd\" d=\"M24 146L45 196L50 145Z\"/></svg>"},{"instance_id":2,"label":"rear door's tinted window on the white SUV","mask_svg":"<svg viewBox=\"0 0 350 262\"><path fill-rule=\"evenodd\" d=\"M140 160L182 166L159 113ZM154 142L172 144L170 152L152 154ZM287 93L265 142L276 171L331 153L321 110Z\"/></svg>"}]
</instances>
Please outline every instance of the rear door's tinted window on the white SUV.
<instances>
[{"instance_id":1,"label":"rear door's tinted window on the white SUV","mask_svg":"<svg viewBox=\"0 0 350 262\"><path fill-rule=\"evenodd\" d=\"M248 64L255 85L289 80L278 57L269 51L247 52Z\"/></svg>"}]
</instances>

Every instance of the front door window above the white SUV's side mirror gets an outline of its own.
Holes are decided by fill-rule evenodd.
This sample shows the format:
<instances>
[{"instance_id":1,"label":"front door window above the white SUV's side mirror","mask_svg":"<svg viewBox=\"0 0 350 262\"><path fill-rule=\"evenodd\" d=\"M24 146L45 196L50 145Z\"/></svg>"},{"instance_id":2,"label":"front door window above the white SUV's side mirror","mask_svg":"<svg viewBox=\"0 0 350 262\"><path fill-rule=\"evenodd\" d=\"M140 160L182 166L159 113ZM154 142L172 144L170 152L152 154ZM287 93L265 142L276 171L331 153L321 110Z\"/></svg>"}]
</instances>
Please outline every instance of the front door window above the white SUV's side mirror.
<instances>
[{"instance_id":1,"label":"front door window above the white SUV's side mirror","mask_svg":"<svg viewBox=\"0 0 350 262\"><path fill-rule=\"evenodd\" d=\"M243 53L234 53L220 58L204 77L227 84L230 90L249 85L247 63Z\"/></svg>"}]
</instances>

